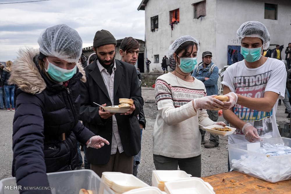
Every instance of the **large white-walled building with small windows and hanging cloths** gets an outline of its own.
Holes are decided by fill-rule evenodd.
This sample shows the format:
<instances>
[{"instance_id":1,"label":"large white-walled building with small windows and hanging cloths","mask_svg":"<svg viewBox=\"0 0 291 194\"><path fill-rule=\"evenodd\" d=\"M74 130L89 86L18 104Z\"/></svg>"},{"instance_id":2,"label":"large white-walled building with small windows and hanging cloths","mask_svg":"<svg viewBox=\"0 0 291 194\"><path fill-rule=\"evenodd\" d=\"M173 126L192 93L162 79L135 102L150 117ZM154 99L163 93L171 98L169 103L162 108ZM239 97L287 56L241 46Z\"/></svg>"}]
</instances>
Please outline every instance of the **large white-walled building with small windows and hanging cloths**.
<instances>
[{"instance_id":1,"label":"large white-walled building with small windows and hanging cloths","mask_svg":"<svg viewBox=\"0 0 291 194\"><path fill-rule=\"evenodd\" d=\"M274 45L291 42L290 0L142 0L138 10L145 10L146 57L151 60L150 72L162 72L168 47L182 35L199 41L198 63L202 52L211 51L212 61L222 68L232 64L233 50L240 52L236 31L246 21L265 24ZM242 55L239 53L242 60Z\"/></svg>"}]
</instances>

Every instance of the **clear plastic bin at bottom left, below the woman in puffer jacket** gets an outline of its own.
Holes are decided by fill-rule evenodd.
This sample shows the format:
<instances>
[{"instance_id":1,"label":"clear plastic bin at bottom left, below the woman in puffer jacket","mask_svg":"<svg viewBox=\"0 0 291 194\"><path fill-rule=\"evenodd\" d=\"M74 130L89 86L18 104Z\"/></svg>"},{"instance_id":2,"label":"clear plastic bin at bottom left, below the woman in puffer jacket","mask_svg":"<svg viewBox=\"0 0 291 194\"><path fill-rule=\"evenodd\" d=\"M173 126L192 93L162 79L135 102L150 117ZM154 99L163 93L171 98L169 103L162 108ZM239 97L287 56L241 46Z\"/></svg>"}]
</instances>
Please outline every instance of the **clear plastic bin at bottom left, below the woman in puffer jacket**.
<instances>
[{"instance_id":1,"label":"clear plastic bin at bottom left, below the woman in puffer jacket","mask_svg":"<svg viewBox=\"0 0 291 194\"><path fill-rule=\"evenodd\" d=\"M114 194L105 185L93 170L72 170L47 173L49 186L52 186L52 194L78 194L81 188L91 190L93 194ZM0 194L19 194L18 190L8 190L5 186L16 186L15 177L0 181Z\"/></svg>"}]
</instances>

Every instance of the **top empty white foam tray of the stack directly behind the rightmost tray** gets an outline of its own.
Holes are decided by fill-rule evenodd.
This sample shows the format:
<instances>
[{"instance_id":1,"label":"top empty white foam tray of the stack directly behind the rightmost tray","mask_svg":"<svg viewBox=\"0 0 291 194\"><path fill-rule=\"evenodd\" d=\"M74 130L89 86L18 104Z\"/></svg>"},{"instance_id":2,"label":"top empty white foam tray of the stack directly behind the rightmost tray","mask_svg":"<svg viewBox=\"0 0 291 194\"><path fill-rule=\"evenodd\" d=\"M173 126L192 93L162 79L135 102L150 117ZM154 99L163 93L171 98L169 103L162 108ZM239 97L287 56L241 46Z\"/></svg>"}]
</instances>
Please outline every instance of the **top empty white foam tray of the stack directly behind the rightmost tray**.
<instances>
[{"instance_id":1,"label":"top empty white foam tray of the stack directly behind the rightmost tray","mask_svg":"<svg viewBox=\"0 0 291 194\"><path fill-rule=\"evenodd\" d=\"M152 173L159 182L173 181L182 178L189 178L191 175L183 170L153 170Z\"/></svg>"}]
</instances>

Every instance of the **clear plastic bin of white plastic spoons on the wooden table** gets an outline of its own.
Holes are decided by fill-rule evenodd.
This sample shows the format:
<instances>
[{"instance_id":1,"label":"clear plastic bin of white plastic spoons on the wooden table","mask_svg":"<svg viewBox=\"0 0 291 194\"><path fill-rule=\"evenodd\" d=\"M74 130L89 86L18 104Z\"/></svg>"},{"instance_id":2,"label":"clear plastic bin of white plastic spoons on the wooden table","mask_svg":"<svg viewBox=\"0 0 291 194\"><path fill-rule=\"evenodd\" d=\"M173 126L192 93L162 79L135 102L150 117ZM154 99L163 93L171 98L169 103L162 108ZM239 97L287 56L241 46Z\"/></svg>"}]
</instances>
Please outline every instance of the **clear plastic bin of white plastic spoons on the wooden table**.
<instances>
[{"instance_id":1,"label":"clear plastic bin of white plastic spoons on the wooden table","mask_svg":"<svg viewBox=\"0 0 291 194\"><path fill-rule=\"evenodd\" d=\"M291 179L291 154L270 156L247 150L250 142L228 145L230 168L246 175L257 177L269 182ZM291 147L290 138L271 138L260 141L264 143L281 143Z\"/></svg>"}]
</instances>

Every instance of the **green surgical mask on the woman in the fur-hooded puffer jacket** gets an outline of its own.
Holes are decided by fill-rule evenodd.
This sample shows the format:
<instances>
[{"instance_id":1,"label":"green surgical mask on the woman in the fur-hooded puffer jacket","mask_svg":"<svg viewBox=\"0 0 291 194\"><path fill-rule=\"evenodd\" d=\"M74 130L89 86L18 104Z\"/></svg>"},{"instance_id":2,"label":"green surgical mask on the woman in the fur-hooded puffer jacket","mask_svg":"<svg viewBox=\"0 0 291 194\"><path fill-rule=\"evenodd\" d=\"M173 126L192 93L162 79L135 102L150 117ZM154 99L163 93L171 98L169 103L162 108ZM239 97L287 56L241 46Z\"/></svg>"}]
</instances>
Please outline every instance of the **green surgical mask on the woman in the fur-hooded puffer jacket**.
<instances>
[{"instance_id":1,"label":"green surgical mask on the woman in the fur-hooded puffer jacket","mask_svg":"<svg viewBox=\"0 0 291 194\"><path fill-rule=\"evenodd\" d=\"M47 60L49 63L49 61ZM71 70L65 70L61 67L57 67L56 65L49 63L47 69L45 70L52 79L58 82L63 82L71 79L74 74L77 72L77 65Z\"/></svg>"}]
</instances>

